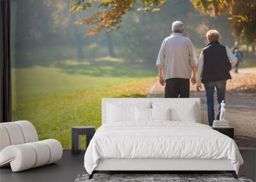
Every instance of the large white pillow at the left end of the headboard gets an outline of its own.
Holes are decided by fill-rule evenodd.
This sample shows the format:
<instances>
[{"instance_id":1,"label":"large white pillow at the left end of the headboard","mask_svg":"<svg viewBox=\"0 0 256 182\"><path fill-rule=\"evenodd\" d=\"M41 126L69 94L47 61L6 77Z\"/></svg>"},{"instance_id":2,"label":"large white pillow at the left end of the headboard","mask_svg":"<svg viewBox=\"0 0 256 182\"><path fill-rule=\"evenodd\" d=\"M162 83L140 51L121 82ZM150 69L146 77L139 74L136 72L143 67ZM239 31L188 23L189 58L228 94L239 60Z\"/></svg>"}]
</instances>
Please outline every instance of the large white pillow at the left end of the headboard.
<instances>
[{"instance_id":1,"label":"large white pillow at the left end of the headboard","mask_svg":"<svg viewBox=\"0 0 256 182\"><path fill-rule=\"evenodd\" d=\"M108 103L107 121L135 121L135 107Z\"/></svg>"}]
</instances>

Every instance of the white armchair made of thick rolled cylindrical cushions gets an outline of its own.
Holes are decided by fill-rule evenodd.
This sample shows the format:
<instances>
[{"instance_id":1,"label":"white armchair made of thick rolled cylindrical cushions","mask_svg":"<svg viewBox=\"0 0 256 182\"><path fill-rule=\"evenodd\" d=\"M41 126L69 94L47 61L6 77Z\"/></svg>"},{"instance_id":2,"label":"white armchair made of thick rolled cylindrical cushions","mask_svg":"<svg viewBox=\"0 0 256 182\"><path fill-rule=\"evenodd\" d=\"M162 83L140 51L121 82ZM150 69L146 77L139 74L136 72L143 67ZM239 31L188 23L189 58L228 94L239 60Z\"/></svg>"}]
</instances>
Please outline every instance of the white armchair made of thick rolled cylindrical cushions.
<instances>
[{"instance_id":1,"label":"white armchair made of thick rolled cylindrical cushions","mask_svg":"<svg viewBox=\"0 0 256 182\"><path fill-rule=\"evenodd\" d=\"M0 123L0 167L11 165L13 172L57 162L63 150L54 139L38 141L29 121Z\"/></svg>"}]
</instances>

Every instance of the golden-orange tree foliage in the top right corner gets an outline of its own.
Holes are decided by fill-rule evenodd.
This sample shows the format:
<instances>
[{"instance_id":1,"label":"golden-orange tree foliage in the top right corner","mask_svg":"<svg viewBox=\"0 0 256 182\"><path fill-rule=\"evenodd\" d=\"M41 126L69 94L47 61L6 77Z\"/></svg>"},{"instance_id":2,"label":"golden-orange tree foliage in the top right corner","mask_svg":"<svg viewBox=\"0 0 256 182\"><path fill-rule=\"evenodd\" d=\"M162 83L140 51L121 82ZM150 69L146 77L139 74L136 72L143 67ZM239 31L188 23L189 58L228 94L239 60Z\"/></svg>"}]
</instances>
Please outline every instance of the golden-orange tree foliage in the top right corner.
<instances>
[{"instance_id":1,"label":"golden-orange tree foliage in the top right corner","mask_svg":"<svg viewBox=\"0 0 256 182\"><path fill-rule=\"evenodd\" d=\"M191 0L202 13L216 17L228 15L236 36L245 42L256 41L256 1L255 0Z\"/></svg>"}]
</instances>

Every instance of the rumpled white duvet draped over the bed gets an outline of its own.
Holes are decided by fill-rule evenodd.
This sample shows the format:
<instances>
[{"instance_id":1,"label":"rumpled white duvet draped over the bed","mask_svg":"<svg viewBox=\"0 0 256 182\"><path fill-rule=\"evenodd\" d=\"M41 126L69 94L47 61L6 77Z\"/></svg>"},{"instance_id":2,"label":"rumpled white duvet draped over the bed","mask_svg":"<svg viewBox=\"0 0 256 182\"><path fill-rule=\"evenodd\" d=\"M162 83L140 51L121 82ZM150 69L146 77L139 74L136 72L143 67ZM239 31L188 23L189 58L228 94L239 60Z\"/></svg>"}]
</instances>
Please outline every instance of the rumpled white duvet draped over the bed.
<instances>
[{"instance_id":1,"label":"rumpled white duvet draped over the bed","mask_svg":"<svg viewBox=\"0 0 256 182\"><path fill-rule=\"evenodd\" d=\"M237 174L243 164L230 137L207 125L177 121L101 126L84 155L86 171L92 174L99 159L106 158L229 159Z\"/></svg>"}]
</instances>

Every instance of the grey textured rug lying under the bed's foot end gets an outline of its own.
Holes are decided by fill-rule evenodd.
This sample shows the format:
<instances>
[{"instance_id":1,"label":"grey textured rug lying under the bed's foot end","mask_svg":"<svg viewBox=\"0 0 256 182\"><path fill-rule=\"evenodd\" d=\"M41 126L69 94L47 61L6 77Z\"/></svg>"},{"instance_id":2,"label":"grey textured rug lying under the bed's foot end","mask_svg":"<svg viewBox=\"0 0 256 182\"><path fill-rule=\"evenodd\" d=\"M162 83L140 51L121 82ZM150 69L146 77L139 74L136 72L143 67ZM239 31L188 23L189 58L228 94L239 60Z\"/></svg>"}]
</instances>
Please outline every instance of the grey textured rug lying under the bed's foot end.
<instances>
[{"instance_id":1,"label":"grey textured rug lying under the bed's foot end","mask_svg":"<svg viewBox=\"0 0 256 182\"><path fill-rule=\"evenodd\" d=\"M75 182L118 182L118 181L136 181L136 182L191 182L191 181L207 181L207 182L253 182L244 176L238 176L234 179L231 174L94 174L92 179L88 179L88 174L78 175Z\"/></svg>"}]
</instances>

